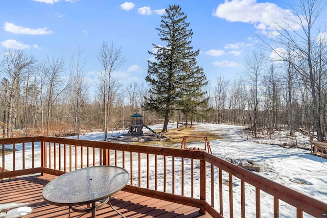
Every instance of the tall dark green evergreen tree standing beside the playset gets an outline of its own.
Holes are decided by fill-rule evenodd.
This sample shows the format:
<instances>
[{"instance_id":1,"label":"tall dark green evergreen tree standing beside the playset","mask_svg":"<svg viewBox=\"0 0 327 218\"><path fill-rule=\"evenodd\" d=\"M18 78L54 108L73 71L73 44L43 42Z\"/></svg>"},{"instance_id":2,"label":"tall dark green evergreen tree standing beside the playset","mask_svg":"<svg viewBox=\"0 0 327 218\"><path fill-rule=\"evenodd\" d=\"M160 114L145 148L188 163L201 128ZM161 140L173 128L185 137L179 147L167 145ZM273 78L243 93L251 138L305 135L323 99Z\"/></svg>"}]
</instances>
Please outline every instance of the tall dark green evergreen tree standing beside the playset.
<instances>
[{"instance_id":1,"label":"tall dark green evergreen tree standing beside the playset","mask_svg":"<svg viewBox=\"0 0 327 218\"><path fill-rule=\"evenodd\" d=\"M148 60L146 81L150 85L150 96L145 99L144 107L165 116L161 132L168 130L171 111L182 107L183 103L186 107L186 101L190 100L187 96L197 93L193 97L199 99L203 95L201 87L207 83L202 68L196 63L199 50L193 51L193 31L186 18L179 5L169 5L166 15L162 15L160 28L156 28L166 45L153 44L156 52L149 51L154 60Z\"/></svg>"}]
</instances>

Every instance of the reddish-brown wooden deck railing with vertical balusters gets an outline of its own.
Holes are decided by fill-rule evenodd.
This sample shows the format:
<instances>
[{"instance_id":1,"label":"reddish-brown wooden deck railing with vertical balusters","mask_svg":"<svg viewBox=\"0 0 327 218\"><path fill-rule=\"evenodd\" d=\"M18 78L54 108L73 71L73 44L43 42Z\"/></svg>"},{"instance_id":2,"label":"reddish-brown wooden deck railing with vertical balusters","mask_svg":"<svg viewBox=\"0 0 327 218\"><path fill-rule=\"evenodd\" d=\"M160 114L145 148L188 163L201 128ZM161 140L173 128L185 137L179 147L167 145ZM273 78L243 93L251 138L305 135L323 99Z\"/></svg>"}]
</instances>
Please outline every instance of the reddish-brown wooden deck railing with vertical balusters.
<instances>
[{"instance_id":1,"label":"reddish-brown wooden deck railing with vertical balusters","mask_svg":"<svg viewBox=\"0 0 327 218\"><path fill-rule=\"evenodd\" d=\"M125 191L200 208L213 217L327 217L327 204L203 151L56 137L0 139L0 179L122 166ZM254 196L254 197L253 197Z\"/></svg>"}]
</instances>

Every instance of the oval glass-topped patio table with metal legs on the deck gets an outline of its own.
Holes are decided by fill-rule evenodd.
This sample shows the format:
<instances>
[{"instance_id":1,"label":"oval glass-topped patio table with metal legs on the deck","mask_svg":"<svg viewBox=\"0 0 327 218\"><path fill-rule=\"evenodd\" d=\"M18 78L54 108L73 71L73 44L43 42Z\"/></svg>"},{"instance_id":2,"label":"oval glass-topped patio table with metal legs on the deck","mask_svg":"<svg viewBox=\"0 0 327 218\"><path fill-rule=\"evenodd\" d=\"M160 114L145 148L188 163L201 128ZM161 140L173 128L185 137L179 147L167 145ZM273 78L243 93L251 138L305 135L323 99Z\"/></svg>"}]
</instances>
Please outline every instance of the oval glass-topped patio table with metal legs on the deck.
<instances>
[{"instance_id":1,"label":"oval glass-topped patio table with metal legs on the deck","mask_svg":"<svg viewBox=\"0 0 327 218\"><path fill-rule=\"evenodd\" d=\"M68 217L71 209L75 212L92 212L96 217L96 210L109 202L110 196L123 189L129 179L126 169L118 166L91 166L63 174L46 184L42 190L45 202L57 206L68 206ZM96 205L96 202L103 201ZM76 206L86 205L80 209Z\"/></svg>"}]
</instances>

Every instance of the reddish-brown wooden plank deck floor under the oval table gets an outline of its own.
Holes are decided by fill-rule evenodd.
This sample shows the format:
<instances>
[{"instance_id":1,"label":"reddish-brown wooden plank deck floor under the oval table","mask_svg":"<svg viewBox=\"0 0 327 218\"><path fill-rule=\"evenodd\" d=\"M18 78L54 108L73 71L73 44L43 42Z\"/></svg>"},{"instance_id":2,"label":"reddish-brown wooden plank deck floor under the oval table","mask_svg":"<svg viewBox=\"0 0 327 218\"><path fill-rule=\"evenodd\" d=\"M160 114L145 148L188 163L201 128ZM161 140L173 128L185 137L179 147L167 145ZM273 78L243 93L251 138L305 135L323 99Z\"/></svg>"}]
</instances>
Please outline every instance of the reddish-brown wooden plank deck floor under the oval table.
<instances>
[{"instance_id":1,"label":"reddish-brown wooden plank deck floor under the oval table","mask_svg":"<svg viewBox=\"0 0 327 218\"><path fill-rule=\"evenodd\" d=\"M29 176L0 181L0 204L28 203L32 213L24 217L68 217L68 207L50 205L43 201L41 192L46 183L56 176ZM126 217L212 217L200 215L199 209L159 199L119 191L112 196L112 205ZM107 204L97 210L97 217L121 217ZM71 211L71 217L90 217Z\"/></svg>"}]
</instances>

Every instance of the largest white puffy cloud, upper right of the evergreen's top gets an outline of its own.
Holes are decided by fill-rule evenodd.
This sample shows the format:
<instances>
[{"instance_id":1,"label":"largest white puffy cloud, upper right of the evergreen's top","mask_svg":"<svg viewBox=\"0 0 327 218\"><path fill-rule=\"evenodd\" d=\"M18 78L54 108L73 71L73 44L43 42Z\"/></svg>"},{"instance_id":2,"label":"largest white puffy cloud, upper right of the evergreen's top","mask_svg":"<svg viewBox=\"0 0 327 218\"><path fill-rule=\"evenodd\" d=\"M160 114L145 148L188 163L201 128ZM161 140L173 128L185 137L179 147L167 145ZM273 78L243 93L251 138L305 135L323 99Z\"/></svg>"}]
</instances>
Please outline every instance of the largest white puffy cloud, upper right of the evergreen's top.
<instances>
[{"instance_id":1,"label":"largest white puffy cloud, upper right of the evergreen's top","mask_svg":"<svg viewBox=\"0 0 327 218\"><path fill-rule=\"evenodd\" d=\"M290 20L297 20L291 10L285 10L273 3L257 3L256 0L225 0L213 12L214 16L230 22L251 23L263 34L279 29L279 27L299 26Z\"/></svg>"}]
</instances>

